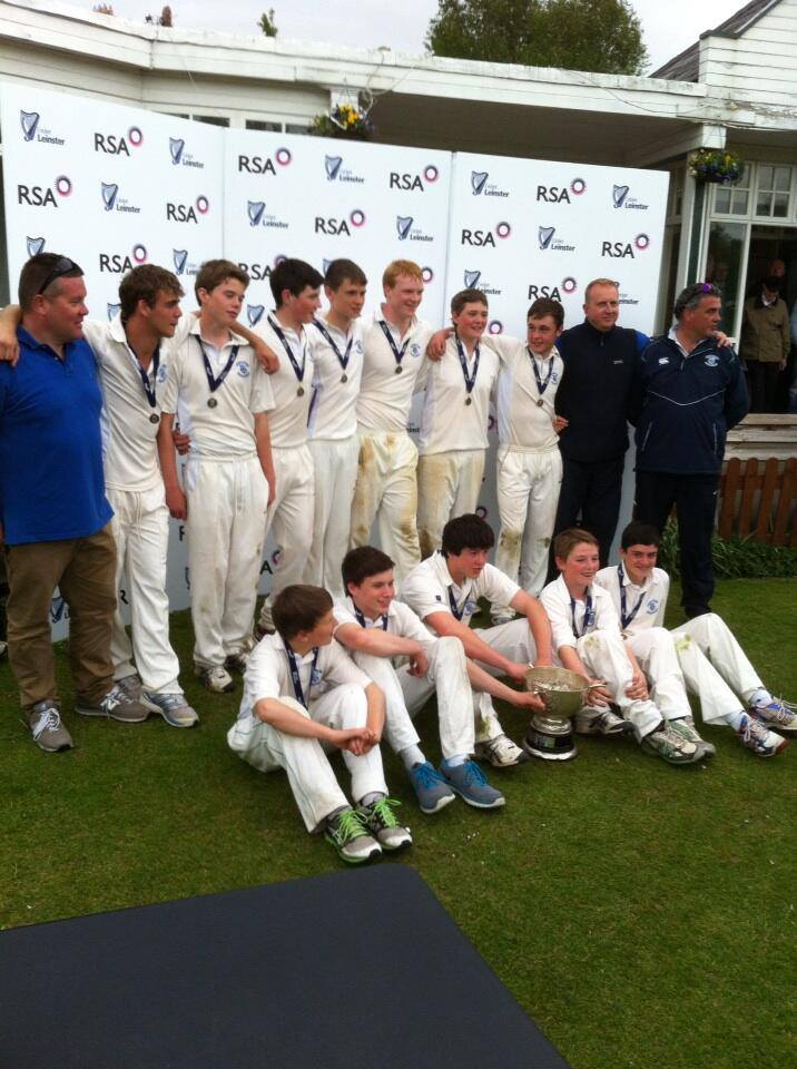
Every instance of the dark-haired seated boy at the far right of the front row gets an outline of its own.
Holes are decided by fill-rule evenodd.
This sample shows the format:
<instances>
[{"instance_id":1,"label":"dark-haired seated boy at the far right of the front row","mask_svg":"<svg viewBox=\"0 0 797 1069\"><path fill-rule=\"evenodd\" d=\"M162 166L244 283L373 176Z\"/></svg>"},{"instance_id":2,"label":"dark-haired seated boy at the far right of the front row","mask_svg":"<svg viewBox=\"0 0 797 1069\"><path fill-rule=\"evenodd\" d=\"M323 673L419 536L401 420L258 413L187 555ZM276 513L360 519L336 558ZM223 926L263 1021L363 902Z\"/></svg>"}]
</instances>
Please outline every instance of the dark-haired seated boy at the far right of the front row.
<instances>
[{"instance_id":1,"label":"dark-haired seated boy at the far right of the front row","mask_svg":"<svg viewBox=\"0 0 797 1069\"><path fill-rule=\"evenodd\" d=\"M646 643L665 622L670 578L656 567L659 542L655 527L629 523L621 536L620 563L596 576L634 645ZM725 620L707 612L670 635L687 689L700 699L703 720L728 724L741 745L759 757L780 753L788 742L778 732L797 732L795 707L766 689Z\"/></svg>"}]
</instances>

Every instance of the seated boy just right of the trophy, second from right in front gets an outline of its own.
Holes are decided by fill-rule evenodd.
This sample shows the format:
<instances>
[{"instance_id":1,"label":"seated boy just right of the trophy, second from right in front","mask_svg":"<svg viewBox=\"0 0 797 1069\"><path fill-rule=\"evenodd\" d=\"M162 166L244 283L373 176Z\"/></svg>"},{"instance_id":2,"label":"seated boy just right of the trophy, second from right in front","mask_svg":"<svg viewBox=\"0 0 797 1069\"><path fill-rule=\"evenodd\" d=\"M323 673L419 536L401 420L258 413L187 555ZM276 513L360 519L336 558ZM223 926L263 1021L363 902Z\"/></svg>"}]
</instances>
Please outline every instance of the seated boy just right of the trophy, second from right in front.
<instances>
[{"instance_id":1,"label":"seated boy just right of the trophy, second from right in front","mask_svg":"<svg viewBox=\"0 0 797 1069\"><path fill-rule=\"evenodd\" d=\"M590 705L577 718L577 730L611 735L630 724L646 753L672 765L699 761L705 747L685 722L688 703L666 709L650 700L645 673L623 641L611 598L593 583L598 540L589 531L569 528L555 537L553 549L560 576L545 587L540 600L551 620L557 658L563 668L593 684ZM609 703L620 707L626 720L608 709Z\"/></svg>"}]
</instances>

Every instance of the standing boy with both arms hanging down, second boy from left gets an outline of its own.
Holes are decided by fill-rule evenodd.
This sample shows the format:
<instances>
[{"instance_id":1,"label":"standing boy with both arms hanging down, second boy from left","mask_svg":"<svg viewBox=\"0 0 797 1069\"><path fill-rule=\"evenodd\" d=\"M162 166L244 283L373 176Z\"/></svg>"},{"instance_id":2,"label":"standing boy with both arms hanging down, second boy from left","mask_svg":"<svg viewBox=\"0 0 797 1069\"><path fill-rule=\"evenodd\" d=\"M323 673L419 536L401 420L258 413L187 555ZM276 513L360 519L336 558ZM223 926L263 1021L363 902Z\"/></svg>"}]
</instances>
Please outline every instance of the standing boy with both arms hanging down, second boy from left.
<instances>
[{"instance_id":1,"label":"standing boy with both arms hanging down, second boy from left","mask_svg":"<svg viewBox=\"0 0 797 1069\"><path fill-rule=\"evenodd\" d=\"M274 487L268 379L235 333L249 276L210 259L196 277L199 317L169 361L158 432L166 503L187 519L194 663L205 686L233 690L252 645L266 509ZM185 492L171 429L190 435Z\"/></svg>"}]
</instances>

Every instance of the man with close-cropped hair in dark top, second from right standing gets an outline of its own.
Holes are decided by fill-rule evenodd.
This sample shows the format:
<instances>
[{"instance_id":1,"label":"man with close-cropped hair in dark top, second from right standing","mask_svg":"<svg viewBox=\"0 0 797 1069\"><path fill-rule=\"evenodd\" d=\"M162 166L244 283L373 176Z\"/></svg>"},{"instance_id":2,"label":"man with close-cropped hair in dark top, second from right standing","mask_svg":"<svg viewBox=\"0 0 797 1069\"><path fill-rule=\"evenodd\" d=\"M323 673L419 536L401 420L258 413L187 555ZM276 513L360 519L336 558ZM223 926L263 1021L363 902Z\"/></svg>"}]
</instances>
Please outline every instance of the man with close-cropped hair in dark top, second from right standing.
<instances>
[{"instance_id":1,"label":"man with close-cropped hair in dark top, second from right standing","mask_svg":"<svg viewBox=\"0 0 797 1069\"><path fill-rule=\"evenodd\" d=\"M568 425L559 439L563 471L554 531L587 528L598 539L601 567L620 512L627 423L639 414L639 354L649 341L617 326L619 311L617 283L596 278L584 293L587 318L557 342L564 373L555 406Z\"/></svg>"}]
</instances>

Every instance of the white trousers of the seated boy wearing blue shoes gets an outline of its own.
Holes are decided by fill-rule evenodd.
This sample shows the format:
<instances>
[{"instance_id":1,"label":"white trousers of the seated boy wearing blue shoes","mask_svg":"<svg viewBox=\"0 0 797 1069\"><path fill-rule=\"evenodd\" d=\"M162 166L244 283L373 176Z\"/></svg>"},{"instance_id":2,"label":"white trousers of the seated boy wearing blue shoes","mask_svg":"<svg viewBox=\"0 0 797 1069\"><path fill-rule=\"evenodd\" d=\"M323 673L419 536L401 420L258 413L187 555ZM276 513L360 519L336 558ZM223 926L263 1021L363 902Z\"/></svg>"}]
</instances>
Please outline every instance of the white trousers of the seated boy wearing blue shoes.
<instances>
[{"instance_id":1,"label":"white trousers of the seated boy wearing blue shoes","mask_svg":"<svg viewBox=\"0 0 797 1069\"><path fill-rule=\"evenodd\" d=\"M443 757L473 753L476 722L480 741L501 735L490 695L471 690L465 651L459 638L439 638L425 647L425 653L429 657L425 676L411 675L409 665L394 668L390 657L352 654L355 664L385 696L385 738L392 749L400 754L407 746L417 746L419 735L412 718L435 692Z\"/></svg>"}]
</instances>

